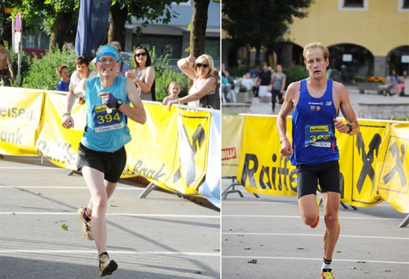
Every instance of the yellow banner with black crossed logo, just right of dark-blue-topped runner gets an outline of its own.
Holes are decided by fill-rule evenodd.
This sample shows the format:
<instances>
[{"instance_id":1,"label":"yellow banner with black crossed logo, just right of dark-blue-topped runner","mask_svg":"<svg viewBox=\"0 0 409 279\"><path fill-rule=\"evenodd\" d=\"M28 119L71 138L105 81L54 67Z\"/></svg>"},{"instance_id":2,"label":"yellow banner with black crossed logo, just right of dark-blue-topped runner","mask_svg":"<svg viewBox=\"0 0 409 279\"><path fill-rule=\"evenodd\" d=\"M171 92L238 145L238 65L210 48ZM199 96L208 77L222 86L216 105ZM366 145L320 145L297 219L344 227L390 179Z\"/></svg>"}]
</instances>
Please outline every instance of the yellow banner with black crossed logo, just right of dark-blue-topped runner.
<instances>
[{"instance_id":1,"label":"yellow banner with black crossed logo, just right of dark-blue-topped runner","mask_svg":"<svg viewBox=\"0 0 409 279\"><path fill-rule=\"evenodd\" d=\"M381 160L379 146L386 122L359 120L359 128L359 134L353 137L336 134L341 155L341 200L352 206L368 207L383 201L378 195L375 170Z\"/></svg>"}]
</instances>

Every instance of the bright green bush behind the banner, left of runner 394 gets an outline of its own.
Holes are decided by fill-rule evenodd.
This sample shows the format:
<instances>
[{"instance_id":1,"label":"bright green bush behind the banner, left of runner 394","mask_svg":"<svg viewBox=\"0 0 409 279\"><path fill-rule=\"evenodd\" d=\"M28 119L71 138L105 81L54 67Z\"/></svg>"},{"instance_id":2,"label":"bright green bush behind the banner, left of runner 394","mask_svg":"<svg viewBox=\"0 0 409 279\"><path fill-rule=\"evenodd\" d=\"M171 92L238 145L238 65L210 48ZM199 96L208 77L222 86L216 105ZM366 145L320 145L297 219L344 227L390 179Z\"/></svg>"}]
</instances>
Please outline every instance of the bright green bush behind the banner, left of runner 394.
<instances>
[{"instance_id":1,"label":"bright green bush behind the banner, left of runner 394","mask_svg":"<svg viewBox=\"0 0 409 279\"><path fill-rule=\"evenodd\" d=\"M55 69L60 64L66 64L71 75L75 70L75 53L68 53L55 47L41 59L35 57L24 79L23 87L57 90L59 77Z\"/></svg>"}]
</instances>

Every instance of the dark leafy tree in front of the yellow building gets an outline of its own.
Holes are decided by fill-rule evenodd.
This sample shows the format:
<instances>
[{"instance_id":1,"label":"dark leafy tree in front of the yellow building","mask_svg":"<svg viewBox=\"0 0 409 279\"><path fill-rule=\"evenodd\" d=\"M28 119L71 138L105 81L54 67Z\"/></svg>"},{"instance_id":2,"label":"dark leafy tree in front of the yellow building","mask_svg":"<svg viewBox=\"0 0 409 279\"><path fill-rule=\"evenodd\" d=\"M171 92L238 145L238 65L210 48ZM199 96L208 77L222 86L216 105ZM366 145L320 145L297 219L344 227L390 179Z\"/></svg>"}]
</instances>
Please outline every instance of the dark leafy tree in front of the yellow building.
<instances>
[{"instance_id":1,"label":"dark leafy tree in front of the yellow building","mask_svg":"<svg viewBox=\"0 0 409 279\"><path fill-rule=\"evenodd\" d=\"M262 46L274 49L294 17L307 16L313 0L223 0L222 28L242 46L256 48L260 64Z\"/></svg>"}]
</instances>

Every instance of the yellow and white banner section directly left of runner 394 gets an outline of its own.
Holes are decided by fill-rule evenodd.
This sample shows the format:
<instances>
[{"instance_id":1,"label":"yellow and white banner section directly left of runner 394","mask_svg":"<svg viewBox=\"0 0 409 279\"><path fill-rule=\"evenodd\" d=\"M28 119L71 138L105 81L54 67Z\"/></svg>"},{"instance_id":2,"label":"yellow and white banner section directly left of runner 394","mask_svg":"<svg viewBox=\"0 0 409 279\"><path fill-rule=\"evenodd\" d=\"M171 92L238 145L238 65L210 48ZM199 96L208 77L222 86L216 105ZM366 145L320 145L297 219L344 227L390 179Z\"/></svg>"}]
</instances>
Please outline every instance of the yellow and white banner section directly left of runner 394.
<instances>
[{"instance_id":1,"label":"yellow and white banner section directly left of runner 394","mask_svg":"<svg viewBox=\"0 0 409 279\"><path fill-rule=\"evenodd\" d=\"M78 146L86 126L85 105L75 102L71 110L74 128L66 129L62 115L66 111L66 95L45 93L44 117L37 143L37 152L53 164L77 170Z\"/></svg>"}]
</instances>

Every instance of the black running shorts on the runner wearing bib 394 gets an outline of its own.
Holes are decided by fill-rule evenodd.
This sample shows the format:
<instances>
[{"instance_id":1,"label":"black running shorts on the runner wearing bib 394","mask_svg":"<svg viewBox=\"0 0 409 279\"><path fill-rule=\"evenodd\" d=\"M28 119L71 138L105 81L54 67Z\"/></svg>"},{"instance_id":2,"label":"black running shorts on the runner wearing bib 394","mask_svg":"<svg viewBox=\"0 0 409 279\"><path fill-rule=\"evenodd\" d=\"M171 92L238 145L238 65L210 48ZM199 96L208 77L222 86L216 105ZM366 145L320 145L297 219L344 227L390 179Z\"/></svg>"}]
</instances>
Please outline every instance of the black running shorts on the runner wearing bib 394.
<instances>
[{"instance_id":1,"label":"black running shorts on the runner wearing bib 394","mask_svg":"<svg viewBox=\"0 0 409 279\"><path fill-rule=\"evenodd\" d=\"M122 171L124 171L126 164L126 151L125 147L113 152L93 151L90 148L86 148L79 143L78 148L78 171L83 166L89 166L104 173L104 179L109 182L116 183L120 180Z\"/></svg>"}]
</instances>

